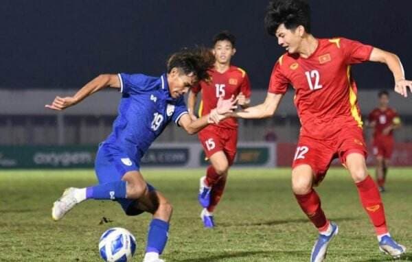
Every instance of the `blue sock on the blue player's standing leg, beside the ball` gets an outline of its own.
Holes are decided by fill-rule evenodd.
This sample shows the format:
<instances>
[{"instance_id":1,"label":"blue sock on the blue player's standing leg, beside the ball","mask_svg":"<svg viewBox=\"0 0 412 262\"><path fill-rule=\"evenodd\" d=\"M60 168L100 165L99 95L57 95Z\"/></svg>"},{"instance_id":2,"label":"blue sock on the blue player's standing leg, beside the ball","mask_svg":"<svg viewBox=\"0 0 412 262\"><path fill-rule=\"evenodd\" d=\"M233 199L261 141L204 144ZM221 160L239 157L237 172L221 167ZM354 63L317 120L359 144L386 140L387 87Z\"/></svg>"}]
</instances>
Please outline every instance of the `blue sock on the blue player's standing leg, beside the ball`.
<instances>
[{"instance_id":1,"label":"blue sock on the blue player's standing leg, beside the ball","mask_svg":"<svg viewBox=\"0 0 412 262\"><path fill-rule=\"evenodd\" d=\"M169 223L160 219L152 219L149 226L147 252L161 254L168 241Z\"/></svg>"}]
</instances>

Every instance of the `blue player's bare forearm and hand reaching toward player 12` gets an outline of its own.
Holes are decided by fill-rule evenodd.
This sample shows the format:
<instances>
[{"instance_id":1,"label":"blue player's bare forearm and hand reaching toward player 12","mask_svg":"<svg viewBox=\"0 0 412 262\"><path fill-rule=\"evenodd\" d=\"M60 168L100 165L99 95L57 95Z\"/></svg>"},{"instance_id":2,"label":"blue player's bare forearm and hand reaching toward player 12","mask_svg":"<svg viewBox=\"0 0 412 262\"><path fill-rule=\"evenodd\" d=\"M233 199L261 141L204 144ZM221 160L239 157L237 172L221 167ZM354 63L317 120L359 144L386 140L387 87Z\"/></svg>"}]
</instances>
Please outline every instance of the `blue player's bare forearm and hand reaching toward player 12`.
<instances>
[{"instance_id":1,"label":"blue player's bare forearm and hand reaching toward player 12","mask_svg":"<svg viewBox=\"0 0 412 262\"><path fill-rule=\"evenodd\" d=\"M225 119L228 113L233 112L237 108L237 99L233 96L230 99L223 99L222 97L218 100L218 106L211 110L207 115L193 121L189 114L181 116L179 119L179 126L186 130L187 134L196 134L209 123L218 123L218 121Z\"/></svg>"}]
</instances>

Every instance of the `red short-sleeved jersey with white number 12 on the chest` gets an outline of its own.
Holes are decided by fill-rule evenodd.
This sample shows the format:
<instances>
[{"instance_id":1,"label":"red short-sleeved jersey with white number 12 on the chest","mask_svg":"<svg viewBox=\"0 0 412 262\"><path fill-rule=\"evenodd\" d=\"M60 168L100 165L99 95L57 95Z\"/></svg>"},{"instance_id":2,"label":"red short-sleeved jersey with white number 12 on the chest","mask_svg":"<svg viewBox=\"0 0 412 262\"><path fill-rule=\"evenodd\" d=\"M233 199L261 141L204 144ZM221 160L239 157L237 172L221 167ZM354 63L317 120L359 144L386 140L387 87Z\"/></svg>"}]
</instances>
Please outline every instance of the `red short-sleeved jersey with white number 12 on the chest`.
<instances>
[{"instance_id":1,"label":"red short-sleeved jersey with white number 12 on the chest","mask_svg":"<svg viewBox=\"0 0 412 262\"><path fill-rule=\"evenodd\" d=\"M276 62L268 92L295 88L301 134L328 139L339 126L362 126L351 64L369 60L373 47L346 38L318 39L308 58L285 53Z\"/></svg>"}]
</instances>

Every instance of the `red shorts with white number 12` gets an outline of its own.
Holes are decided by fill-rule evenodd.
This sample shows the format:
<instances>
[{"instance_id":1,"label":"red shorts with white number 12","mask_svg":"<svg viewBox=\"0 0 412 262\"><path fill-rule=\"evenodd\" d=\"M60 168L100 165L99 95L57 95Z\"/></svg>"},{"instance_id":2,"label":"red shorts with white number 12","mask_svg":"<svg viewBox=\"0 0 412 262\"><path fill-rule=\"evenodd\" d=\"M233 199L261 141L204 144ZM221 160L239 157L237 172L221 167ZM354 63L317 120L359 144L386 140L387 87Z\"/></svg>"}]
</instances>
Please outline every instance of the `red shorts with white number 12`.
<instances>
[{"instance_id":1,"label":"red shorts with white number 12","mask_svg":"<svg viewBox=\"0 0 412 262\"><path fill-rule=\"evenodd\" d=\"M346 156L354 152L363 154L365 158L367 156L362 128L357 126L343 126L336 130L330 139L314 139L301 135L292 167L310 165L315 176L314 184L319 184L334 158L340 158L341 163L345 165Z\"/></svg>"}]
</instances>

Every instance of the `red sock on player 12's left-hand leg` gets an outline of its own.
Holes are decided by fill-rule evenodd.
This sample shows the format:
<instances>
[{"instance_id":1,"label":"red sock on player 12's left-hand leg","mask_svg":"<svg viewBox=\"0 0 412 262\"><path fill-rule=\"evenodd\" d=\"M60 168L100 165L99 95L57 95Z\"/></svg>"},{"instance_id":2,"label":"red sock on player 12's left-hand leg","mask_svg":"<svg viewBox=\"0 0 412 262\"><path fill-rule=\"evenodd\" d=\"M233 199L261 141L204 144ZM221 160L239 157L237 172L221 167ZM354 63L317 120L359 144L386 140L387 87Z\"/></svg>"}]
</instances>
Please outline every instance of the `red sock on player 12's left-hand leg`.
<instances>
[{"instance_id":1,"label":"red sock on player 12's left-hand leg","mask_svg":"<svg viewBox=\"0 0 412 262\"><path fill-rule=\"evenodd\" d=\"M310 221L318 228L322 230L328 225L328 220L325 217L325 213L321 209L321 200L319 195L312 189L306 195L296 195L297 202L302 211L308 216Z\"/></svg>"}]
</instances>

